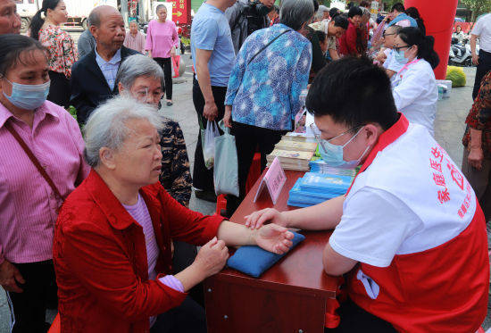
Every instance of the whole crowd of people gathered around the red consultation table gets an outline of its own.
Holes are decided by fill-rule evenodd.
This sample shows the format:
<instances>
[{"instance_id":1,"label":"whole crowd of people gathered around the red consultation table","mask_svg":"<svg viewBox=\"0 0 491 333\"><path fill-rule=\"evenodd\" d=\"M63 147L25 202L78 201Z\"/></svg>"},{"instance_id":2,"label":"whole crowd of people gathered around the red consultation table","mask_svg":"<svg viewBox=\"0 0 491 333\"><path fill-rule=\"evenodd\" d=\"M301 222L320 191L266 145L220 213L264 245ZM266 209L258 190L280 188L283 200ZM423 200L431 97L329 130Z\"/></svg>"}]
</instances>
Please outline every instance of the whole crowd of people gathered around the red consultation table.
<instances>
[{"instance_id":1,"label":"whole crowd of people gathered around the red consultation table","mask_svg":"<svg viewBox=\"0 0 491 333\"><path fill-rule=\"evenodd\" d=\"M173 104L179 36L166 7L155 11L144 35L97 6L75 46L62 0L42 2L29 36L15 2L0 0L0 285L12 332L46 332L47 308L62 332L205 332L200 283L224 267L227 246L284 254L287 228L334 229L319 264L347 274L348 300L326 332L479 328L491 14L470 34L478 69L461 171L433 137L440 59L417 8L394 4L374 21L366 1L347 12L316 0L205 1L191 27L192 98L203 128L222 120L235 136L239 195L223 217L189 209L193 192L216 202L213 170L199 130L191 177L179 123L159 112L164 96ZM361 166L348 193L227 221L254 154L264 170L304 107L325 161Z\"/></svg>"}]
</instances>

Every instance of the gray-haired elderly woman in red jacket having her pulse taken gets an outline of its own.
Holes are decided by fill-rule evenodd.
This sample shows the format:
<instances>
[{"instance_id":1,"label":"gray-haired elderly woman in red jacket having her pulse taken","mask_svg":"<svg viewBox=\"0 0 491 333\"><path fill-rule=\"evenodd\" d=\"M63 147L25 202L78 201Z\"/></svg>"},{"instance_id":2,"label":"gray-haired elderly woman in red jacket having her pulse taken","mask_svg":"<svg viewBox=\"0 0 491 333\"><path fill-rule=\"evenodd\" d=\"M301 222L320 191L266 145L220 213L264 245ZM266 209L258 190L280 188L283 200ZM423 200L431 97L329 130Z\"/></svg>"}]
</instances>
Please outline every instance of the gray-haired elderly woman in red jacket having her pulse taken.
<instances>
[{"instance_id":1,"label":"gray-haired elderly woman in red jacket having her pulse taken","mask_svg":"<svg viewBox=\"0 0 491 333\"><path fill-rule=\"evenodd\" d=\"M187 290L221 271L227 246L281 254L292 244L276 224L251 231L172 199L158 183L161 124L152 106L125 97L87 121L93 169L66 199L54 234L62 332L204 332L204 310ZM171 238L202 246L176 275Z\"/></svg>"}]
</instances>

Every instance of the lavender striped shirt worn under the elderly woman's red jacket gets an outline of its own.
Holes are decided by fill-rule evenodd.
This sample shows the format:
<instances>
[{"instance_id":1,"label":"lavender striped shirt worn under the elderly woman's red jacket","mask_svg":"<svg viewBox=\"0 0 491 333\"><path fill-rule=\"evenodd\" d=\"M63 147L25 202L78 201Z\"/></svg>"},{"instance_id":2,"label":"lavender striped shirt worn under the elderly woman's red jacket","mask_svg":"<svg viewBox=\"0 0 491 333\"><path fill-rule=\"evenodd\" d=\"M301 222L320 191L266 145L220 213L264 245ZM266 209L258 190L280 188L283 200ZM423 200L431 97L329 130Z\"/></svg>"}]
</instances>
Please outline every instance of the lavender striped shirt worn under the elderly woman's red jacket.
<instances>
[{"instance_id":1,"label":"lavender striped shirt worn under the elderly woman's red jacket","mask_svg":"<svg viewBox=\"0 0 491 333\"><path fill-rule=\"evenodd\" d=\"M134 205L123 204L123 207L129 212L129 215L135 221L138 222L143 228L143 233L145 235L146 243L146 258L148 260L148 279L156 279L157 273L155 272L155 264L157 263L157 258L159 256L159 246L157 246L157 241L154 234L154 225L152 224L152 219L148 208L146 208L145 200L138 193L138 202ZM176 279L173 275L166 275L159 279L165 286L171 287L181 293L184 293L184 287L179 279ZM156 317L150 317L150 326L154 325Z\"/></svg>"}]
</instances>

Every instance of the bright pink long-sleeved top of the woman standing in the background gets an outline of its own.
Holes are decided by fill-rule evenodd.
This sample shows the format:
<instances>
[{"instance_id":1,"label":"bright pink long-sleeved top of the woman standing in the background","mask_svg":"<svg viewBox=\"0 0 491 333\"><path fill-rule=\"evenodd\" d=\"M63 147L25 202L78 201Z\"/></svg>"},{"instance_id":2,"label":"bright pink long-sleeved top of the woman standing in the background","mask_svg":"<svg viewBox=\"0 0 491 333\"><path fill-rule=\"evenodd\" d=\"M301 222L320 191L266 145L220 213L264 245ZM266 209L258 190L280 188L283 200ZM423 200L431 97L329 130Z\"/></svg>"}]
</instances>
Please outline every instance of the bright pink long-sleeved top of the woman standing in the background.
<instances>
[{"instance_id":1,"label":"bright pink long-sleeved top of the woman standing in the background","mask_svg":"<svg viewBox=\"0 0 491 333\"><path fill-rule=\"evenodd\" d=\"M179 36L176 23L165 21L163 23L153 20L148 23L146 30L147 51L152 51L153 58L170 58L172 46L179 47Z\"/></svg>"}]
</instances>

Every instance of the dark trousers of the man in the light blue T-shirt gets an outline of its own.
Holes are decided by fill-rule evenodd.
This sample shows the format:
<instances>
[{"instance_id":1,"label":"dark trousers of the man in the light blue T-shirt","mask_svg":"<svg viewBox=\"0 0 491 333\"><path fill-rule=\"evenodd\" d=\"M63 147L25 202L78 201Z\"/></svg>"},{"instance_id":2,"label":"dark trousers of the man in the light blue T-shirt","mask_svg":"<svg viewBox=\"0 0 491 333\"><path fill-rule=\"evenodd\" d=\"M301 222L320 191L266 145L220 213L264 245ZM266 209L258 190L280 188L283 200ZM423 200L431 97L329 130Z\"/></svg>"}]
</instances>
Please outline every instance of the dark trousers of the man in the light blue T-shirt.
<instances>
[{"instance_id":1,"label":"dark trousers of the man in the light blue T-shirt","mask_svg":"<svg viewBox=\"0 0 491 333\"><path fill-rule=\"evenodd\" d=\"M225 94L227 94L227 87L212 87L212 94L215 100L215 104L218 108L218 116L215 121L221 121L223 119L223 115L225 114ZM196 113L198 119L201 119L203 122L204 128L206 128L206 118L203 116L204 110L204 96L201 92L201 88L196 79L193 79L193 103L195 104ZM223 132L220 130L220 134ZM204 191L215 191L215 187L213 185L213 168L211 170L206 169L204 166L204 157L203 157L203 146L201 144L201 130L198 134L198 142L196 144L196 152L195 152L195 168L193 170L193 186Z\"/></svg>"}]
</instances>

